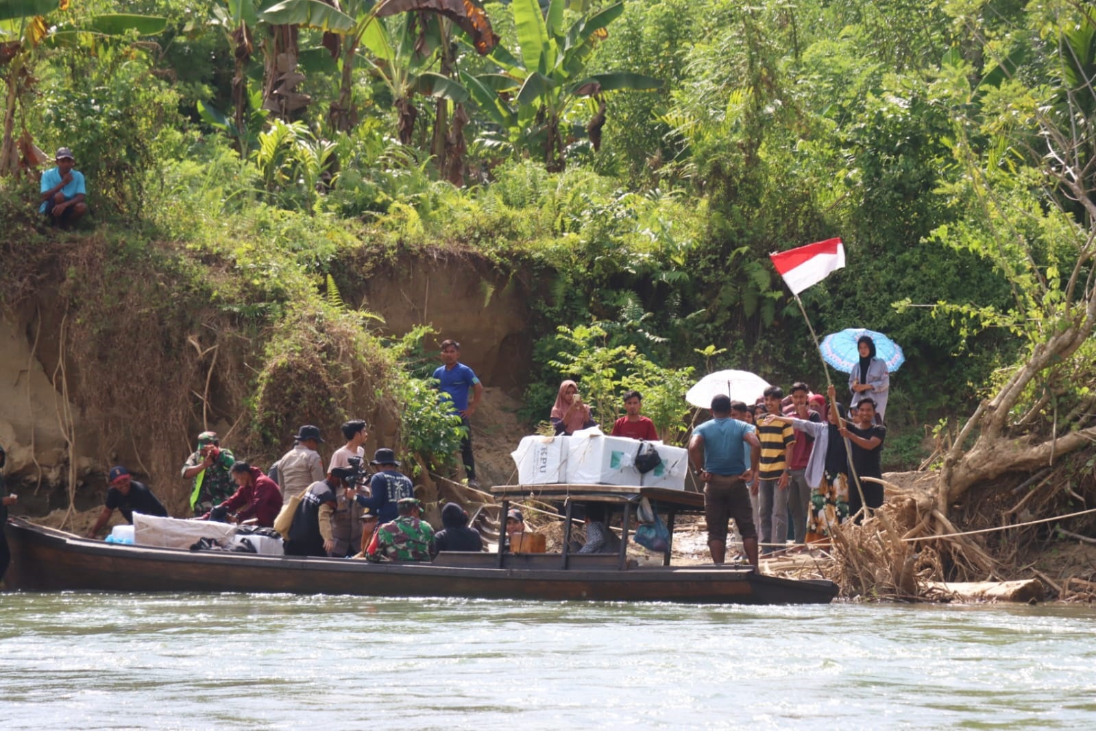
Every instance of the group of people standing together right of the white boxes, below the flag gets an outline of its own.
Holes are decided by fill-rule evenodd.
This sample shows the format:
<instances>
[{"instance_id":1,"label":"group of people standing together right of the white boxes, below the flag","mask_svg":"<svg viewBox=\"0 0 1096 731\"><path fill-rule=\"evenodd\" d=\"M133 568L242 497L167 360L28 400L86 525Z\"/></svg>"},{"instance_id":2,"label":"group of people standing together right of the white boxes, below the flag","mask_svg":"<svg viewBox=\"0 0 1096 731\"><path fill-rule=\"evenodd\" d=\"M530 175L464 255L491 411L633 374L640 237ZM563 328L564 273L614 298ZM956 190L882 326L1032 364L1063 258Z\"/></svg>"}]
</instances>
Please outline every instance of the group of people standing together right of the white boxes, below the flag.
<instances>
[{"instance_id":1,"label":"group of people standing together right of the white boxes, below the flag","mask_svg":"<svg viewBox=\"0 0 1096 731\"><path fill-rule=\"evenodd\" d=\"M705 484L712 561L724 561L730 518L745 558L757 566L761 556L785 549L789 516L795 542L802 545L827 540L836 526L860 519L861 509L882 505L890 376L871 338L860 338L858 349L847 411L834 386L825 398L802 381L787 397L769 386L755 404L712 399L712 419L693 430L688 445Z\"/></svg>"}]
</instances>

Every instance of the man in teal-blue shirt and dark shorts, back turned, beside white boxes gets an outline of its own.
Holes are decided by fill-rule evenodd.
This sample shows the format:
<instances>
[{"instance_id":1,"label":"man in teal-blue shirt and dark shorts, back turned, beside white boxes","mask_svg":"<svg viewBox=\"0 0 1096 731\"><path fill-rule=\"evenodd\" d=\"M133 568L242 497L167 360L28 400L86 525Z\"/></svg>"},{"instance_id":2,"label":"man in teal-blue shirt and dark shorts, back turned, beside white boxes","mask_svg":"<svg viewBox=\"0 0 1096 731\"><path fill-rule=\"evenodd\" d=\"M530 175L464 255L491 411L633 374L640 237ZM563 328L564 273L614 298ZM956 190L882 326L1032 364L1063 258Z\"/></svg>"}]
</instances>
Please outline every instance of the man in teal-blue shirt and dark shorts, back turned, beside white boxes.
<instances>
[{"instance_id":1,"label":"man in teal-blue shirt and dark shorts, back turned, beside white boxes","mask_svg":"<svg viewBox=\"0 0 1096 731\"><path fill-rule=\"evenodd\" d=\"M740 407L735 411L745 411L744 403L734 406ZM753 505L746 482L757 480L761 442L757 441L752 424L731 419L729 397L717 396L711 399L711 421L693 430L693 437L688 443L693 472L704 482L708 550L711 551L712 563L723 562L727 555L727 522L733 517L742 534L742 549L756 569L757 527L753 521ZM744 445L750 446L750 468L746 468Z\"/></svg>"}]
</instances>

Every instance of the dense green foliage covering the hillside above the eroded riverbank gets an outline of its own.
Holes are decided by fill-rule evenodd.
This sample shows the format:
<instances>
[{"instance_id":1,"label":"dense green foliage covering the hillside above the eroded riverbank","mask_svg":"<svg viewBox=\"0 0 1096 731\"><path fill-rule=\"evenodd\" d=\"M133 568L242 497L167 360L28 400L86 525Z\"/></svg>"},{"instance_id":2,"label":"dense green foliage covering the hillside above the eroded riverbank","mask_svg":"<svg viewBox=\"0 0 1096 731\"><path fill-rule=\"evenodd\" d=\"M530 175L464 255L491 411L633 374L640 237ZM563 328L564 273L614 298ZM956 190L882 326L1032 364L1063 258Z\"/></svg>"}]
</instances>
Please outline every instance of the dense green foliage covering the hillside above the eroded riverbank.
<instances>
[{"instance_id":1,"label":"dense green foliage covering the hillside above the eroded riverbank","mask_svg":"<svg viewBox=\"0 0 1096 731\"><path fill-rule=\"evenodd\" d=\"M982 82L992 106L1051 83L1039 58L1075 24L1080 5L1068 0L629 0L619 18L598 15L610 3L555 2L536 27L529 3L492 2L484 10L501 41L484 56L464 26L373 18L369 2L346 10L351 25L312 19L292 33L261 0L215 12L190 0L124 4L167 27L24 43L26 73L0 66L4 110L15 138L26 129L44 149L77 150L94 220L127 251L178 248L173 261L208 283L215 308L270 335L250 402L261 434L285 426L272 421L282 409L267 406L266 384L286 368L315 372L294 358L330 347L330 333L277 334L319 327L327 275L365 275L363 262L427 247L538 283L533 422L560 378L592 357L583 332L596 333L601 354L627 351L628 373L649 364L636 376L649 390L655 374L687 367L746 368L821 390L806 324L767 254L833 236L848 265L803 304L820 334L860 325L902 343L907 364L888 411L899 431L920 434L925 421L967 411L1015 356L1007 329L956 327L985 308L1008 310L1013 272L985 255L1001 236L956 155L995 144L992 130L958 138L949 90ZM73 0L48 20L82 27L121 7ZM23 37L25 25L4 21L11 35L0 41ZM324 27L341 34L334 55ZM571 66L549 68L527 47L546 27L561 49L571 44ZM302 76L295 93L311 101L286 112L266 92L272 54L285 52L275 39L290 36ZM1002 58L1023 72L994 76ZM608 75L617 70L661 87L626 91ZM574 85L583 77L603 81L595 96ZM604 126L587 125L602 102ZM995 174L1013 175L1013 164L998 159ZM0 224L33 226L33 192L0 185ZM916 307L940 301L958 309ZM299 397L317 396L317 409L334 409L317 418L333 419L345 374L326 373L322 393ZM393 392L415 398L408 389ZM667 426L684 416L660 409ZM916 449L902 452L917 461Z\"/></svg>"}]
</instances>

